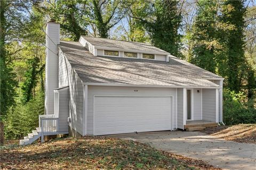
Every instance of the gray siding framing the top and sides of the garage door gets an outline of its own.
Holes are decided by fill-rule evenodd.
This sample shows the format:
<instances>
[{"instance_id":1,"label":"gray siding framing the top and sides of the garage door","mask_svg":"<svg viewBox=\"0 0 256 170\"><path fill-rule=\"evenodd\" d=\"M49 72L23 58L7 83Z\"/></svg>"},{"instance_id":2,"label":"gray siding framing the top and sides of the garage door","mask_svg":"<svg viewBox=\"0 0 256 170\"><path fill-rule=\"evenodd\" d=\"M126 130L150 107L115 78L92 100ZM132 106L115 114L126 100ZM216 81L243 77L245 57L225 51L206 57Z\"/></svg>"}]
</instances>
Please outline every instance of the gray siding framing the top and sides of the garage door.
<instances>
[{"instance_id":1,"label":"gray siding framing the top and sides of the garage door","mask_svg":"<svg viewBox=\"0 0 256 170\"><path fill-rule=\"evenodd\" d=\"M134 91L138 90L138 91ZM175 88L88 86L87 134L93 134L93 96L173 96L173 128L176 127Z\"/></svg>"}]
</instances>

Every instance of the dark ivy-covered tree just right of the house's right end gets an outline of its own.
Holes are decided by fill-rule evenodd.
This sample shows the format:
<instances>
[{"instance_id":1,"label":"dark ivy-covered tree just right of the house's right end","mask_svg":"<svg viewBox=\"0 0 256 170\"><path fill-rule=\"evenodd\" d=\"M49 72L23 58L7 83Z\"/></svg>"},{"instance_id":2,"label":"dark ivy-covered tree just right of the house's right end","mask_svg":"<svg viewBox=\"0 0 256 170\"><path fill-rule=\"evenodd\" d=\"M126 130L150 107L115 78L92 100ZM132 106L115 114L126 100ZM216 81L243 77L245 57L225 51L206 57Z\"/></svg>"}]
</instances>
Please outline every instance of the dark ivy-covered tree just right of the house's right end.
<instances>
[{"instance_id":1,"label":"dark ivy-covered tree just right of the house's right end","mask_svg":"<svg viewBox=\"0 0 256 170\"><path fill-rule=\"evenodd\" d=\"M230 29L225 32L225 44L227 45L227 86L230 90L241 90L241 79L244 73L244 14L243 1L224 1L222 4L221 21L229 24ZM224 40L223 39L223 40Z\"/></svg>"}]
</instances>

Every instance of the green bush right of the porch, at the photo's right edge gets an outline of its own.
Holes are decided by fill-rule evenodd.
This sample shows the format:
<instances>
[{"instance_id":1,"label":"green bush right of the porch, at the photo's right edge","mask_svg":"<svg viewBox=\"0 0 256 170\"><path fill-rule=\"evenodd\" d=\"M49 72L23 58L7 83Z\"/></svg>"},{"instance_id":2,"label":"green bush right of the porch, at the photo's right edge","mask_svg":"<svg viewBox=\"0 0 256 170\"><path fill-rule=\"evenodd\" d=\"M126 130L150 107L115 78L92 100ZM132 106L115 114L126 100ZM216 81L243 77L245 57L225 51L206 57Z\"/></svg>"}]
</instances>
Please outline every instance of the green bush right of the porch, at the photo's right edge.
<instances>
[{"instance_id":1,"label":"green bush right of the porch, at the photo's right edge","mask_svg":"<svg viewBox=\"0 0 256 170\"><path fill-rule=\"evenodd\" d=\"M226 125L256 123L256 109L247 107L243 92L223 90L223 122Z\"/></svg>"}]
</instances>

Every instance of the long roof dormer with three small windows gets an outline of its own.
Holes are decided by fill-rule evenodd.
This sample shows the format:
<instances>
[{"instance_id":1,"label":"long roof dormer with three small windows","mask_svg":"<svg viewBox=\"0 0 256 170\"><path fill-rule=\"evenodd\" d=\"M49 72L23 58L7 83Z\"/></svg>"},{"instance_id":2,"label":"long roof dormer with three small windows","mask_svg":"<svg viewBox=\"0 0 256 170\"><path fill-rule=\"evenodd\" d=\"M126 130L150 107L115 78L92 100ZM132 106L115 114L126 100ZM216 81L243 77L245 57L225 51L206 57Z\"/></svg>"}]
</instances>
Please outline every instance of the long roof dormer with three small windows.
<instances>
[{"instance_id":1,"label":"long roof dormer with three small windows","mask_svg":"<svg viewBox=\"0 0 256 170\"><path fill-rule=\"evenodd\" d=\"M131 41L81 36L79 43L94 56L139 58L168 62L168 55L170 55L170 53L149 44Z\"/></svg>"}]
</instances>

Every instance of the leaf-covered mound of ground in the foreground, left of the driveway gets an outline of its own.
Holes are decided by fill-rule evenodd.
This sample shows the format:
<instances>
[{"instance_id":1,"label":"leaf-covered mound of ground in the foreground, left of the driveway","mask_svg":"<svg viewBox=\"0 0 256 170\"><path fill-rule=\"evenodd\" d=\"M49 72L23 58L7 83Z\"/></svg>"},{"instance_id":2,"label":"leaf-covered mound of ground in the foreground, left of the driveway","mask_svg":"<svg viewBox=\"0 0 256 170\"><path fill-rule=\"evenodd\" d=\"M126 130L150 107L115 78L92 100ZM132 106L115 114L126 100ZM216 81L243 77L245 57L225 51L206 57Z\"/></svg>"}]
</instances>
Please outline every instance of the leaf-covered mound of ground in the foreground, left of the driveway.
<instances>
[{"instance_id":1,"label":"leaf-covered mound of ground in the foreground, left of the driveway","mask_svg":"<svg viewBox=\"0 0 256 170\"><path fill-rule=\"evenodd\" d=\"M106 137L64 138L1 152L3 169L219 169L135 141Z\"/></svg>"}]
</instances>

